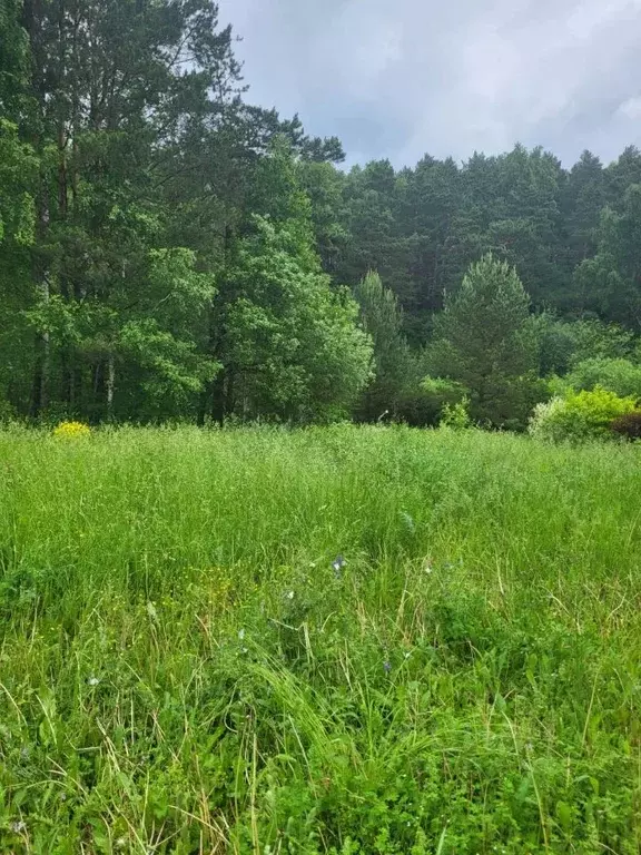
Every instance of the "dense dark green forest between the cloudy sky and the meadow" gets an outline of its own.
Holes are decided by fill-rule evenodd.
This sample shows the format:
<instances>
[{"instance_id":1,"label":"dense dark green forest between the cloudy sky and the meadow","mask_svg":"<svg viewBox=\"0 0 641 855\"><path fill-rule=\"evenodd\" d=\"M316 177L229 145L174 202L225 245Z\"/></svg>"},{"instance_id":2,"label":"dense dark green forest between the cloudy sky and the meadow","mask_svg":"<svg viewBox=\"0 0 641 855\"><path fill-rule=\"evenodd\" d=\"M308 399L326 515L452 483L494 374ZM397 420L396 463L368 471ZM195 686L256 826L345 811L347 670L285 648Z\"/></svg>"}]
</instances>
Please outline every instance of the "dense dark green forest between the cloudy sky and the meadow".
<instances>
[{"instance_id":1,"label":"dense dark green forest between the cloudy sky and the meadow","mask_svg":"<svg viewBox=\"0 0 641 855\"><path fill-rule=\"evenodd\" d=\"M210 0L1 0L0 416L520 429L638 364L638 149L343 159Z\"/></svg>"}]
</instances>

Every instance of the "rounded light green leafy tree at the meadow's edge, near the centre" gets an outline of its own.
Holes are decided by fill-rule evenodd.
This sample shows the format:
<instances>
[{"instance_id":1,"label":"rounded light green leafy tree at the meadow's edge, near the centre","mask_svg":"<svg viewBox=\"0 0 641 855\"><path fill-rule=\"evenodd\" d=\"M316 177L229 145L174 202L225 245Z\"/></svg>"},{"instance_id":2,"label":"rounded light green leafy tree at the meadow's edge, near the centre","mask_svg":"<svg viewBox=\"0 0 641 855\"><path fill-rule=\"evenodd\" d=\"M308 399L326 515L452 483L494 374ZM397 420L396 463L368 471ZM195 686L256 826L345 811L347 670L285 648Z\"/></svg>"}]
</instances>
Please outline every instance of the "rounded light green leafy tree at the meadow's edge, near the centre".
<instances>
[{"instance_id":1,"label":"rounded light green leafy tree at the meadow's edge, near the centre","mask_svg":"<svg viewBox=\"0 0 641 855\"><path fill-rule=\"evenodd\" d=\"M356 325L356 304L332 291L296 223L256 219L229 279L235 298L226 307L224 364L246 415L347 415L369 379L371 340Z\"/></svg>"}]
</instances>

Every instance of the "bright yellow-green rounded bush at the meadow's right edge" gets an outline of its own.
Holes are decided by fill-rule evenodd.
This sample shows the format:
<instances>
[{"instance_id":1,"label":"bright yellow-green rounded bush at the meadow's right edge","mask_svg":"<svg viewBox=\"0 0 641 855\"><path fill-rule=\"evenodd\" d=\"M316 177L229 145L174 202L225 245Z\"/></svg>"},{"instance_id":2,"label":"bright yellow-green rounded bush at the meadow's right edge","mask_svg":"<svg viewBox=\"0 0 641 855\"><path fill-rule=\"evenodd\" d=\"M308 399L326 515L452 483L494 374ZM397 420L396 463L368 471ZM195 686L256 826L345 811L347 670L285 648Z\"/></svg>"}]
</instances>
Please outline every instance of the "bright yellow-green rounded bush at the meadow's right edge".
<instances>
[{"instance_id":1,"label":"bright yellow-green rounded bush at the meadow's right edge","mask_svg":"<svg viewBox=\"0 0 641 855\"><path fill-rule=\"evenodd\" d=\"M601 386L591 392L570 392L539 404L530 421L530 434L549 442L583 442L613 436L612 422L635 410L633 397L620 397Z\"/></svg>"}]
</instances>

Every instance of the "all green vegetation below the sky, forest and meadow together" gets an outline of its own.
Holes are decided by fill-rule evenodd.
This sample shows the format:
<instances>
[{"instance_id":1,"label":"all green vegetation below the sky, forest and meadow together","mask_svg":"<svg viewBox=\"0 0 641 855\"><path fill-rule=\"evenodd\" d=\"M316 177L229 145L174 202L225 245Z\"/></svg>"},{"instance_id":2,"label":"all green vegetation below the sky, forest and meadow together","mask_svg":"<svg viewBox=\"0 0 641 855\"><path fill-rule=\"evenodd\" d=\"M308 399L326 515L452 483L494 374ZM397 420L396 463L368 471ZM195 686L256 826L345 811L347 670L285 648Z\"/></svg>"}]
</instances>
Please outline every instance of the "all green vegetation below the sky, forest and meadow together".
<instances>
[{"instance_id":1,"label":"all green vegetation below the sky, forest and meadow together","mask_svg":"<svg viewBox=\"0 0 641 855\"><path fill-rule=\"evenodd\" d=\"M0 851L639 853L641 153L342 170L234 43L0 0Z\"/></svg>"}]
</instances>

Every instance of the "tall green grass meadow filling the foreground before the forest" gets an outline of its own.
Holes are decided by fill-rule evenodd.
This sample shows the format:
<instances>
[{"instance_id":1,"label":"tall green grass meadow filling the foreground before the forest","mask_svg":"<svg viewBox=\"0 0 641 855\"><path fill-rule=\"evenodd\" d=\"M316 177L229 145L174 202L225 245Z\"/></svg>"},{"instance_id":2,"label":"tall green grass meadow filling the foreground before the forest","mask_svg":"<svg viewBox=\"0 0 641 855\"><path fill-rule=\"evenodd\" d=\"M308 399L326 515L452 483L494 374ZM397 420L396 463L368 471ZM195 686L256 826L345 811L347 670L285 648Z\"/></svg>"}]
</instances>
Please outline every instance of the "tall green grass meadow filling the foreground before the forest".
<instances>
[{"instance_id":1,"label":"tall green grass meadow filling the foreground before the forest","mask_svg":"<svg viewBox=\"0 0 641 855\"><path fill-rule=\"evenodd\" d=\"M0 852L641 852L641 449L16 431L0 491Z\"/></svg>"}]
</instances>

